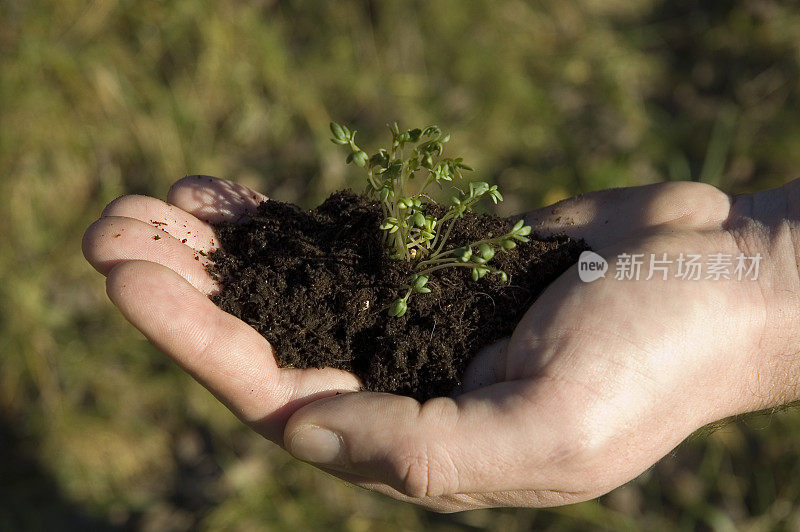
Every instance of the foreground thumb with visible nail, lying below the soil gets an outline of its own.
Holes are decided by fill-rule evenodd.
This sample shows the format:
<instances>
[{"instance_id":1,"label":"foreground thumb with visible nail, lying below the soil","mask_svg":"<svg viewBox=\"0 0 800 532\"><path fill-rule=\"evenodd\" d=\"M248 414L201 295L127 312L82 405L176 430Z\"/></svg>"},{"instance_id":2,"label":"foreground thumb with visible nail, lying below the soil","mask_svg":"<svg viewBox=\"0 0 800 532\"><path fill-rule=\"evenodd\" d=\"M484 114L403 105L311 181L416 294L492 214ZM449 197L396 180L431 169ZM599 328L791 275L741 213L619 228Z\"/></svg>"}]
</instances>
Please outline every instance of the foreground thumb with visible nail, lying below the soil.
<instances>
[{"instance_id":1,"label":"foreground thumb with visible nail, lying below the soil","mask_svg":"<svg viewBox=\"0 0 800 532\"><path fill-rule=\"evenodd\" d=\"M536 405L534 383L499 383L455 399L358 392L314 401L284 432L287 450L320 467L389 485L410 497L535 489L563 449L563 419ZM557 451L556 451L557 452Z\"/></svg>"}]
</instances>

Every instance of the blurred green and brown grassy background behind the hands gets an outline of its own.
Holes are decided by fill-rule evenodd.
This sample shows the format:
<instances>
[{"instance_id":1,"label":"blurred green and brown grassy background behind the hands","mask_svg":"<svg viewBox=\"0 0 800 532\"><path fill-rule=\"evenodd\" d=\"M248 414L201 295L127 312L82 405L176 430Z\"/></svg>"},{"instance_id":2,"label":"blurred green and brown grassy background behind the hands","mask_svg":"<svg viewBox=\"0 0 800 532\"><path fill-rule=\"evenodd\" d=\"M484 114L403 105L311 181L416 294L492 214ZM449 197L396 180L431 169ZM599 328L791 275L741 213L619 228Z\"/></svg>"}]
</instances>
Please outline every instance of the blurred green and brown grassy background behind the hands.
<instances>
[{"instance_id":1,"label":"blurred green and brown grassy background behind the hands","mask_svg":"<svg viewBox=\"0 0 800 532\"><path fill-rule=\"evenodd\" d=\"M185 174L317 204L335 119L438 123L507 214L589 190L800 169L791 2L0 0L0 529L800 527L800 415L701 431L598 501L436 515L251 434L83 260L116 196ZM368 140L369 139L369 140Z\"/></svg>"}]
</instances>

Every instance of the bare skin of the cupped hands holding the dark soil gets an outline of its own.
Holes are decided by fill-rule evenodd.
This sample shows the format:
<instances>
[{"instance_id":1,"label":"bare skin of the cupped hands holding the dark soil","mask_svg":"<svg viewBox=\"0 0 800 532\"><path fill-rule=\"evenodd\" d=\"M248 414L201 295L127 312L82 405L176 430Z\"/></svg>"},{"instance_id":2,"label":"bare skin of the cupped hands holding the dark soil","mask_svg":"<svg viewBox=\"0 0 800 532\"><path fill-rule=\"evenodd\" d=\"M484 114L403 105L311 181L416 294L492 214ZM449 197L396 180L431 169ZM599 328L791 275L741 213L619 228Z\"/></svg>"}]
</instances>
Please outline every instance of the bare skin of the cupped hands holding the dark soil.
<instances>
[{"instance_id":1,"label":"bare skin of the cupped hands holding the dark soil","mask_svg":"<svg viewBox=\"0 0 800 532\"><path fill-rule=\"evenodd\" d=\"M584 238L609 272L584 283L567 271L475 358L458 395L424 404L349 393L358 381L340 370L278 368L263 337L210 302L208 222L264 198L187 177L166 203L112 202L83 251L122 314L244 423L365 488L436 511L579 502L705 424L800 398L800 182L739 197L664 183L525 215L534 231ZM676 279L674 265L666 280L617 280L623 252L762 260L757 280Z\"/></svg>"}]
</instances>

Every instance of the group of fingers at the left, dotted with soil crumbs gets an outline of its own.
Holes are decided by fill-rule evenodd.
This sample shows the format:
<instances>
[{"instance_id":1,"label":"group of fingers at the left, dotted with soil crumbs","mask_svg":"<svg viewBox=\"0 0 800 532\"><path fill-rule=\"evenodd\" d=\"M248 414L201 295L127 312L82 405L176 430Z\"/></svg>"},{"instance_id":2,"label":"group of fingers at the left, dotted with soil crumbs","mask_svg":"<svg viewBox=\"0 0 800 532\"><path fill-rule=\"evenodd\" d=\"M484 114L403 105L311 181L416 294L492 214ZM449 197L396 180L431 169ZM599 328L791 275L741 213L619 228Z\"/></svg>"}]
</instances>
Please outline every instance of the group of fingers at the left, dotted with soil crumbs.
<instances>
[{"instance_id":1,"label":"group of fingers at the left, dotted with soil crumbs","mask_svg":"<svg viewBox=\"0 0 800 532\"><path fill-rule=\"evenodd\" d=\"M136 328L234 414L281 443L289 416L326 395L359 389L337 369L278 368L269 342L208 298L217 246L210 223L235 219L266 197L230 181L191 176L167 202L122 196L84 234L83 253L107 277L111 301Z\"/></svg>"}]
</instances>

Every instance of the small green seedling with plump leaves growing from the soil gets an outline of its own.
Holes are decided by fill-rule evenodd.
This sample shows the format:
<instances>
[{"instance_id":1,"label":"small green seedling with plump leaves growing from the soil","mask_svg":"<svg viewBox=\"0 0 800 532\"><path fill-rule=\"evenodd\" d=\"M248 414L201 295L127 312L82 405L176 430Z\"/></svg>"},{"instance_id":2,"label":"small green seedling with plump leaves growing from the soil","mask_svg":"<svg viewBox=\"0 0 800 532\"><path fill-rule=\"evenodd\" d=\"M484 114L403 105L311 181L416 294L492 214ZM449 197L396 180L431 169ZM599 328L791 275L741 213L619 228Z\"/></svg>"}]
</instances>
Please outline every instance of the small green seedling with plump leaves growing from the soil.
<instances>
[{"instance_id":1,"label":"small green seedling with plump leaves growing from the soil","mask_svg":"<svg viewBox=\"0 0 800 532\"><path fill-rule=\"evenodd\" d=\"M508 233L473 242L459 248L448 248L447 241L456 220L472 209L482 198L494 203L503 200L497 185L483 181L469 183L466 190L453 185L458 194L450 200L447 211L439 216L426 213L425 192L431 185L443 188L444 183L463 179L462 171L472 170L458 157L443 158L444 144L450 135L443 134L437 126L401 131L397 123L389 126L392 144L372 156L358 147L356 132L335 122L331 123L331 139L335 144L350 150L347 162L366 169L367 195L376 199L383 210L384 243L389 256L413 263L413 274L404 286L406 293L389 308L391 316L400 317L408 310L411 294L426 294L428 276L443 268L470 268L472 279L478 281L486 275L497 275L508 282L506 272L491 264L495 253L516 247L517 242L527 242L530 226L522 220ZM418 175L419 174L419 175ZM411 190L411 181L422 184Z\"/></svg>"}]
</instances>

